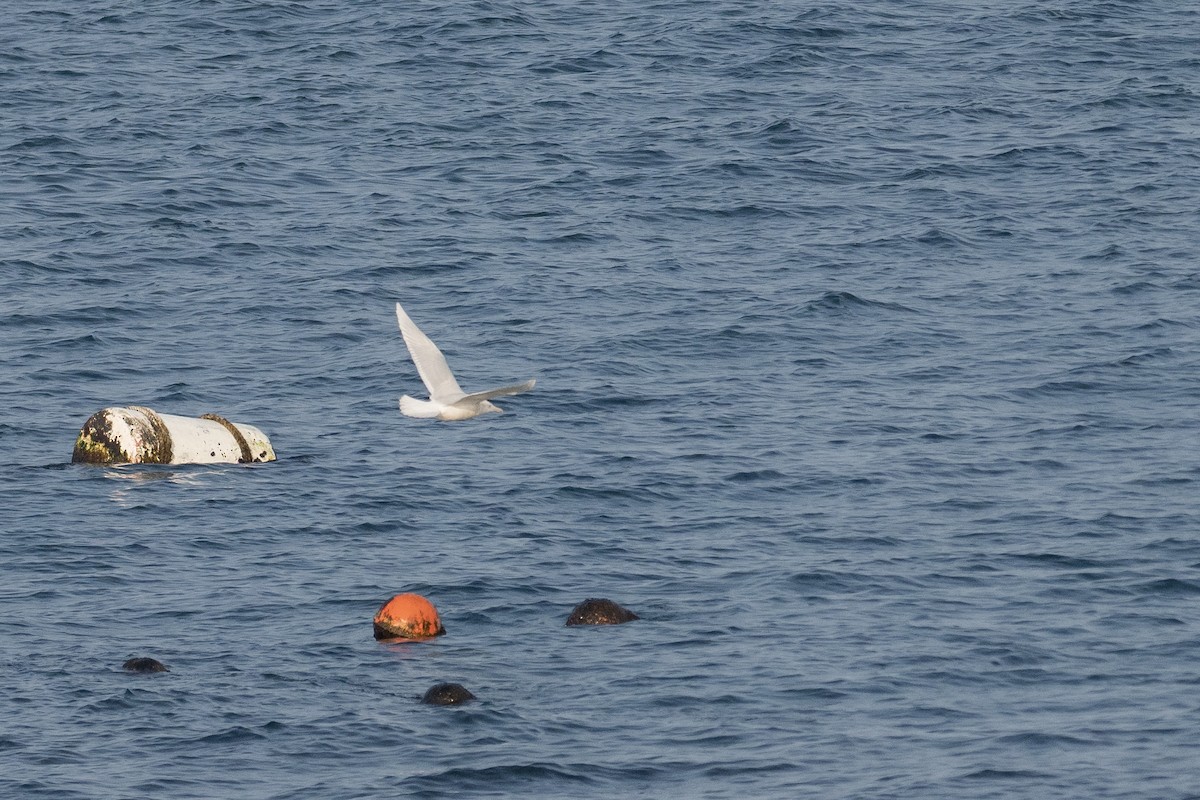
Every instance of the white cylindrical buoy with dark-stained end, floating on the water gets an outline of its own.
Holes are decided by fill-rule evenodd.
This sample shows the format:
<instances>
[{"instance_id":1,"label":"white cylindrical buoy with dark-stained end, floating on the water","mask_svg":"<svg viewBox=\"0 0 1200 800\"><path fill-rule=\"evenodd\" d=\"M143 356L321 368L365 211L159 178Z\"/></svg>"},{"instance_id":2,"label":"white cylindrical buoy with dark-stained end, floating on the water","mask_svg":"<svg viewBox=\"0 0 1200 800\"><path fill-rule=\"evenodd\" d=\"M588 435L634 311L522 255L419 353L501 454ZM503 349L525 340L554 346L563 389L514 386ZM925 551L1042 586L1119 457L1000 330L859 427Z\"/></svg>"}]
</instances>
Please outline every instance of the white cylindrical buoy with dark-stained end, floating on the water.
<instances>
[{"instance_id":1,"label":"white cylindrical buoy with dark-stained end, floating on the water","mask_svg":"<svg viewBox=\"0 0 1200 800\"><path fill-rule=\"evenodd\" d=\"M83 423L76 464L248 464L275 461L271 441L252 425L205 414L158 414L144 405L103 408Z\"/></svg>"}]
</instances>

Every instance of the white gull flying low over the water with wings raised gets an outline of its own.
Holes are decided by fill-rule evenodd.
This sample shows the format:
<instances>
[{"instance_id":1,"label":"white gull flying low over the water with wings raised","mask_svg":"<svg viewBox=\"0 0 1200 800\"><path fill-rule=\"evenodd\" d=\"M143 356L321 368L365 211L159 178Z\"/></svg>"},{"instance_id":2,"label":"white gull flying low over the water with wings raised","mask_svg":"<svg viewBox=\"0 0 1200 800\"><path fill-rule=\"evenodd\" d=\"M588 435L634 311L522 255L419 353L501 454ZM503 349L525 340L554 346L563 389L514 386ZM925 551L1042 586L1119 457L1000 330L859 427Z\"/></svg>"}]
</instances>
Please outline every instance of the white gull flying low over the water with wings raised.
<instances>
[{"instance_id":1,"label":"white gull flying low over the water with wings raised","mask_svg":"<svg viewBox=\"0 0 1200 800\"><path fill-rule=\"evenodd\" d=\"M430 337L421 332L421 329L408 318L404 309L396 303L396 319L400 321L400 332L404 336L404 344L413 356L416 372L425 381L425 387L430 390L430 399L419 401L404 395L400 398L400 413L406 416L415 416L426 420L469 420L480 414L503 411L492 404L493 397L504 395L520 395L533 389L534 380L527 380L515 386L503 389L488 389L486 392L474 392L468 395L458 387L458 381L454 379L450 367L446 366L446 357L442 355L438 345L430 341Z\"/></svg>"}]
</instances>

